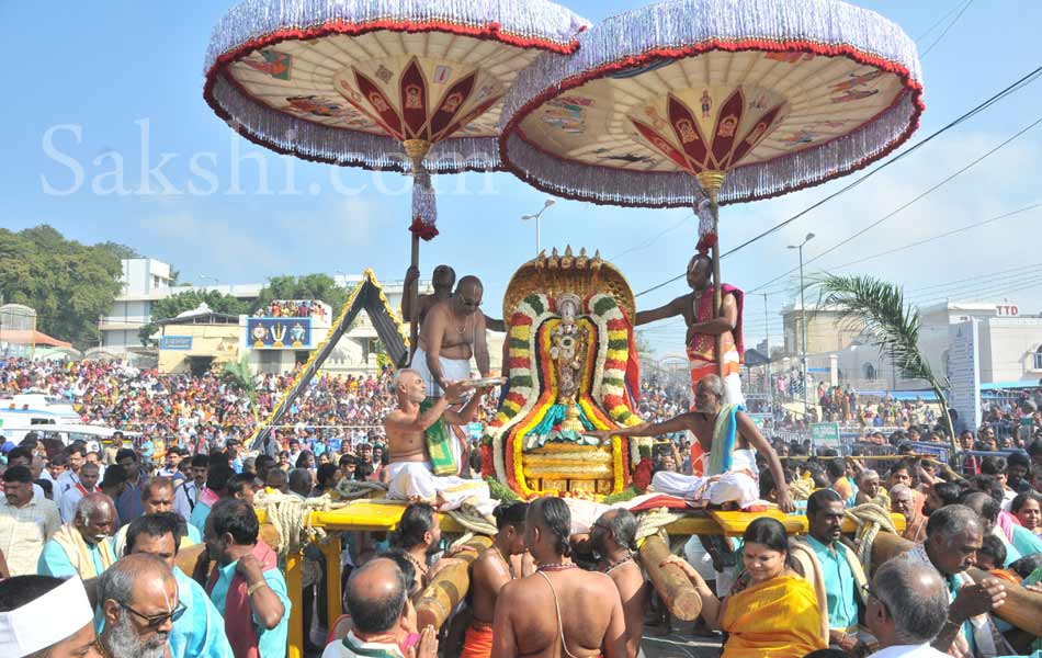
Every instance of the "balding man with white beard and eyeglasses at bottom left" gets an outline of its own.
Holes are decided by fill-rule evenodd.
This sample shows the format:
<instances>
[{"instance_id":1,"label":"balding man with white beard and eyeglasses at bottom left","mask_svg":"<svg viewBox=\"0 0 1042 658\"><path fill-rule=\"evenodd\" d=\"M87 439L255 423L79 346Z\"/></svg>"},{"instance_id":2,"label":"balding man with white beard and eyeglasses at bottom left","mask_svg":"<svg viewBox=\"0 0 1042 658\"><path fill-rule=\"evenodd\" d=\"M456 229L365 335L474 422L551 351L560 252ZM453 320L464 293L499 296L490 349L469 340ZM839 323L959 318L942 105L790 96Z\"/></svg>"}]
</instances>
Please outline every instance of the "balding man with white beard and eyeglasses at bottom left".
<instances>
[{"instance_id":1,"label":"balding man with white beard and eyeglasses at bottom left","mask_svg":"<svg viewBox=\"0 0 1042 658\"><path fill-rule=\"evenodd\" d=\"M98 600L105 628L98 642L109 658L165 658L173 622L184 614L178 582L154 555L124 557L102 574Z\"/></svg>"}]
</instances>

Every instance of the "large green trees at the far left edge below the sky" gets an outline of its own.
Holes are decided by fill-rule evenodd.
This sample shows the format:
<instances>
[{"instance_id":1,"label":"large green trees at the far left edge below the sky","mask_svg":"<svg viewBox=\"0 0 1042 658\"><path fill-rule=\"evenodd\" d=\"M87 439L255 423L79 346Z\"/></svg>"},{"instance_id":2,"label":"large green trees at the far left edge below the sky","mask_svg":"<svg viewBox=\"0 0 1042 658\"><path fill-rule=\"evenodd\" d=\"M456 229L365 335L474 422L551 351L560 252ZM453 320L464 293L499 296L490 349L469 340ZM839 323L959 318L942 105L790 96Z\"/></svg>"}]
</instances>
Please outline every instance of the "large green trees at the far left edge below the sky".
<instances>
[{"instance_id":1,"label":"large green trees at the far left edge below the sky","mask_svg":"<svg viewBox=\"0 0 1042 658\"><path fill-rule=\"evenodd\" d=\"M66 240L47 225L0 229L0 296L34 308L39 331L81 350L94 347L98 318L122 290L113 245Z\"/></svg>"}]
</instances>

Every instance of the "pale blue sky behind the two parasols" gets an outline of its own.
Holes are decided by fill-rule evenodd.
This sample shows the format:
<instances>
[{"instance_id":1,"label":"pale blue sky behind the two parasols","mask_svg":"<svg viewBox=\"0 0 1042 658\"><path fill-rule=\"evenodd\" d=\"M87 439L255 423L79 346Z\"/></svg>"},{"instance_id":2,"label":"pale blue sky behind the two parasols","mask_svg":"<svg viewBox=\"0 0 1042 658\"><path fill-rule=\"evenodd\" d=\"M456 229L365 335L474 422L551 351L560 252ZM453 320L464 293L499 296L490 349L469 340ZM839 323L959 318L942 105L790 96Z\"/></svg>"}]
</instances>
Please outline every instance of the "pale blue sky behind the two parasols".
<instances>
[{"instance_id":1,"label":"pale blue sky behind the two parasols","mask_svg":"<svg viewBox=\"0 0 1042 658\"><path fill-rule=\"evenodd\" d=\"M159 154L178 154L163 169L179 190L189 177L192 154L217 154L217 171L228 171L233 133L202 99L202 64L211 29L228 1L97 2L44 7L0 0L0 23L8 31L0 104L4 175L0 177L0 226L20 229L47 223L84 242L115 240L173 264L185 282L200 274L224 282L248 283L267 276L315 271L361 272L372 268L382 279L399 279L408 264L409 196L398 174L338 170L344 185L369 191L351 197L326 192L330 168L268 154L240 143L240 156L263 156L271 195L135 194L140 188L143 131L147 126L151 166ZM633 9L639 2L612 0L568 3L591 21ZM913 37L926 33L964 0L862 1L895 21ZM41 20L41 12L60 20ZM954 16L954 14L952 14ZM58 16L52 16L58 18ZM951 19L919 42L930 46ZM1042 2L998 0L972 2L924 58L927 112L913 141L925 137L979 101L1042 64L1038 25ZM784 230L724 260L724 279L751 290L795 265L786 245L816 234L808 259L939 182L973 158L998 145L1042 114L1042 82L1024 88L865 185L829 202ZM75 127L73 127L75 126ZM47 136L58 149L83 163L86 184L67 195L47 194L49 184L65 190L70 170L45 152ZM949 229L981 222L1042 201L1040 185L1042 126L985 160L973 170L888 219L865 236L808 265L808 272L833 269ZM97 194L91 181L111 169L112 156L124 158L124 186L132 193ZM92 160L101 157L97 164ZM107 158L107 159L106 159ZM316 183L317 195L285 195L292 169L296 188ZM241 188L256 190L259 166L249 160ZM779 200L724 208L722 245L726 250L768 226L807 207L850 179L789 194ZM113 179L98 181L112 189ZM460 273L486 282L488 313L499 300L518 264L534 252L534 226L520 222L547 197L510 174L469 174L442 181L444 189L465 185L468 194L443 193L439 201L442 235L424 243L426 271L449 262ZM227 188L227 185L223 185ZM557 200L542 223L543 246L570 243L600 249L627 275L635 291L648 288L683 270L695 241L695 224L684 211L641 211L593 206ZM864 272L905 284L920 302L982 297L1009 299L1021 313L1042 311L1039 231L1042 208L997 220L987 227L940 239L842 272ZM633 249L637 247L637 249ZM623 254L623 252L626 252ZM961 283L970 280L969 283ZM755 343L770 326L780 336L778 309L790 302L789 279L768 285L769 321L763 298L749 299L747 342ZM1021 290L1022 288L1022 290ZM677 282L638 299L658 305L684 292ZM675 322L647 333L662 355L679 352L682 328Z\"/></svg>"}]
</instances>

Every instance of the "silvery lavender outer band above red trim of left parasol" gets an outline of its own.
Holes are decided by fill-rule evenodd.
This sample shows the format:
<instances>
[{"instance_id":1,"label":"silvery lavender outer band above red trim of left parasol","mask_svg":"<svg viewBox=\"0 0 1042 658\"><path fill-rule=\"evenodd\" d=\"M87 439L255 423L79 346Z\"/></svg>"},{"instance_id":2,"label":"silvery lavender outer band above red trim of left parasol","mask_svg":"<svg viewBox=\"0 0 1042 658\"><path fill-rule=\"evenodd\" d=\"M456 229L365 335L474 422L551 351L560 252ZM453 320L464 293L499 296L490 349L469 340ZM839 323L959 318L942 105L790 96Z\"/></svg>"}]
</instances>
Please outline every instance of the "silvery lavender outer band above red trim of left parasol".
<instances>
[{"instance_id":1,"label":"silvery lavender outer band above red trim of left parasol","mask_svg":"<svg viewBox=\"0 0 1042 658\"><path fill-rule=\"evenodd\" d=\"M204 72L223 54L281 30L307 30L342 21L364 25L380 21L442 21L539 38L560 46L589 27L586 19L550 0L246 0L214 27Z\"/></svg>"}]
</instances>

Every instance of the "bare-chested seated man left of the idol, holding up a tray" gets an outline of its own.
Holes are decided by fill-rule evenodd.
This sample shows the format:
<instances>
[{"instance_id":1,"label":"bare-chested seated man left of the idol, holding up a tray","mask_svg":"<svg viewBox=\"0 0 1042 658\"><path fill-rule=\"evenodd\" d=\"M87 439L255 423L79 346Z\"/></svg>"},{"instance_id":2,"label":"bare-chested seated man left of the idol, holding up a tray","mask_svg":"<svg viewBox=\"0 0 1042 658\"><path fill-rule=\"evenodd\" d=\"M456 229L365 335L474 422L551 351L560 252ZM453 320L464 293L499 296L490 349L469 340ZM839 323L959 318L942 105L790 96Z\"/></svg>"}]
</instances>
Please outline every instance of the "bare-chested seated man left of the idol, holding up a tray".
<instances>
[{"instance_id":1,"label":"bare-chested seated man left of the idol, holding up a tray","mask_svg":"<svg viewBox=\"0 0 1042 658\"><path fill-rule=\"evenodd\" d=\"M449 409L448 400L462 396L469 388L469 384L444 384L445 395L426 411L420 411L420 404L427 398L427 387L419 373L405 368L395 374L394 390L398 408L384 418L390 454L390 464L387 466L387 497L421 500L433 504L439 511L453 510L469 503L487 517L496 507L496 501L489 496L488 485L484 480L434 475L424 434L428 428L440 420L455 426L471 422L487 389L476 390L463 409L454 411Z\"/></svg>"}]
</instances>

